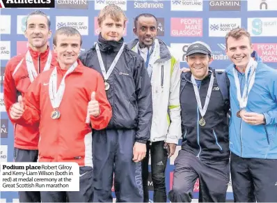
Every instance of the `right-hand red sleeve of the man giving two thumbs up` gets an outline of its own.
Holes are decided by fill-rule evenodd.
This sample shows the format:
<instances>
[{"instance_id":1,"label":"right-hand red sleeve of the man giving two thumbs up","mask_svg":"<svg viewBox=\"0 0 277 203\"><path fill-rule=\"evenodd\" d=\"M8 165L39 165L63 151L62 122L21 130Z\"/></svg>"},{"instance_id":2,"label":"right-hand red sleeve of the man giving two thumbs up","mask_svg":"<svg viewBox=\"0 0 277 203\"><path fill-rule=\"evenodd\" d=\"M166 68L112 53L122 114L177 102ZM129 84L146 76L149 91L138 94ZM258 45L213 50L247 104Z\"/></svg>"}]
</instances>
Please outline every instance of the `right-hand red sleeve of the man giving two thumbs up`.
<instances>
[{"instance_id":1,"label":"right-hand red sleeve of the man giving two thumbs up","mask_svg":"<svg viewBox=\"0 0 277 203\"><path fill-rule=\"evenodd\" d=\"M106 98L106 92L104 88L104 80L99 73L97 73L97 89L95 91L95 99L100 106L100 115L90 116L90 123L93 129L102 130L108 126L111 120L111 105Z\"/></svg>"}]
</instances>

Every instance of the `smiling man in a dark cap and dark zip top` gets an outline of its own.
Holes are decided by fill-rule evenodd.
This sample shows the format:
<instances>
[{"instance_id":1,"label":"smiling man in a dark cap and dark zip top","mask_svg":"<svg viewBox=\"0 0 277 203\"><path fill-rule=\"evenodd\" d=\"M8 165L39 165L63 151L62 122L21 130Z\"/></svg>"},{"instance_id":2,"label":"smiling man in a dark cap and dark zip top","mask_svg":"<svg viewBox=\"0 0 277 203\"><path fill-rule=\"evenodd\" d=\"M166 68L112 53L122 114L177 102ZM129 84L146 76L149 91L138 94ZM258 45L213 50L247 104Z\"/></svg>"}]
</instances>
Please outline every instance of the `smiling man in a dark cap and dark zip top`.
<instances>
[{"instance_id":1,"label":"smiling man in a dark cap and dark zip top","mask_svg":"<svg viewBox=\"0 0 277 203\"><path fill-rule=\"evenodd\" d=\"M215 72L209 68L210 62L208 45L196 42L188 47L187 63L191 72L181 75L183 142L175 159L173 188L168 194L171 202L191 202L197 179L199 202L225 202L230 178L227 123L230 105L223 99ZM228 86L228 80L225 81Z\"/></svg>"}]
</instances>

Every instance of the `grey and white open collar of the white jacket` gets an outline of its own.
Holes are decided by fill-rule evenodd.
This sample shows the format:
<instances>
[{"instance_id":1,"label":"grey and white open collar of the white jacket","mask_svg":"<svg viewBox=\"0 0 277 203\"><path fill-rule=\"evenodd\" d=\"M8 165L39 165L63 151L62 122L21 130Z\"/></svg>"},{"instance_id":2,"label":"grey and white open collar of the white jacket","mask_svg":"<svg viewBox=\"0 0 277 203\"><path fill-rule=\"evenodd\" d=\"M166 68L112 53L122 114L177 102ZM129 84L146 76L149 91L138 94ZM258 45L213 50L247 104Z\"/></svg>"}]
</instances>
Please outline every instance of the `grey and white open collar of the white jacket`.
<instances>
[{"instance_id":1,"label":"grey and white open collar of the white jacket","mask_svg":"<svg viewBox=\"0 0 277 203\"><path fill-rule=\"evenodd\" d=\"M134 52L138 52L138 43L139 43L139 39L136 38L134 40L132 40L131 42L129 42L127 44L129 50L133 50ZM166 45L166 43L164 43L163 40L156 38L155 39L155 43L159 44L159 59L157 59L158 63L164 62L164 61L168 61L169 59L171 59L171 52L168 50L168 47ZM156 46L155 46L156 47Z\"/></svg>"}]
</instances>

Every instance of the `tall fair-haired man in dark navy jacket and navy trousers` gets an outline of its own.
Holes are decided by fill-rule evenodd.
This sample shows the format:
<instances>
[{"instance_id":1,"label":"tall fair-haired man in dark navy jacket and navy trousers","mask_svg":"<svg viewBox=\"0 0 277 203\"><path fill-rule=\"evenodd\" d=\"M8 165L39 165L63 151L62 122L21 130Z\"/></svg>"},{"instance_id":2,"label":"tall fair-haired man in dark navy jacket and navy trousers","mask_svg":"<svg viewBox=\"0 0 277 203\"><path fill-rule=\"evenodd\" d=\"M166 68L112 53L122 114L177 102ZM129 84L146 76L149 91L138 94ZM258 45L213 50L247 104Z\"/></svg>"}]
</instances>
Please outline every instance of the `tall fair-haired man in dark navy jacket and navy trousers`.
<instances>
[{"instance_id":1,"label":"tall fair-haired man in dark navy jacket and navy trousers","mask_svg":"<svg viewBox=\"0 0 277 203\"><path fill-rule=\"evenodd\" d=\"M98 16L97 45L80 56L85 66L102 73L113 113L109 126L93 134L94 202L112 202L113 172L117 201L143 202L141 160L150 139L151 84L143 58L123 42L126 21L118 6L106 6Z\"/></svg>"}]
</instances>

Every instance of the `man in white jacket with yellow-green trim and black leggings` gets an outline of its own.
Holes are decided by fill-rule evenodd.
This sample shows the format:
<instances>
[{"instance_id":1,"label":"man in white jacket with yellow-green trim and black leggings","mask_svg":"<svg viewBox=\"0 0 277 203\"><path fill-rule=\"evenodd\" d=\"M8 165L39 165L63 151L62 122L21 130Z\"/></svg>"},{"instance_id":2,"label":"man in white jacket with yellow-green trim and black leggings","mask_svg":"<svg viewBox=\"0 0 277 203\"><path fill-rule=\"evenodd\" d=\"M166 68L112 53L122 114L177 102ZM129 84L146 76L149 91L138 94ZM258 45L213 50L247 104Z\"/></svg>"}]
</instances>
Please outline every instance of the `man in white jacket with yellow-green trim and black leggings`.
<instances>
[{"instance_id":1,"label":"man in white jacket with yellow-green trim and black leggings","mask_svg":"<svg viewBox=\"0 0 277 203\"><path fill-rule=\"evenodd\" d=\"M142 161L144 202L148 197L148 161L151 151L151 172L154 202L166 202L166 163L175 153L181 138L180 63L170 48L157 36L157 18L149 13L134 20L137 39L129 48L143 57L152 84L153 119L146 157ZM169 114L168 114L169 112Z\"/></svg>"}]
</instances>

